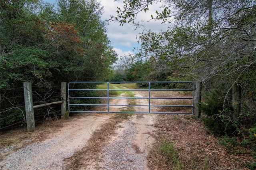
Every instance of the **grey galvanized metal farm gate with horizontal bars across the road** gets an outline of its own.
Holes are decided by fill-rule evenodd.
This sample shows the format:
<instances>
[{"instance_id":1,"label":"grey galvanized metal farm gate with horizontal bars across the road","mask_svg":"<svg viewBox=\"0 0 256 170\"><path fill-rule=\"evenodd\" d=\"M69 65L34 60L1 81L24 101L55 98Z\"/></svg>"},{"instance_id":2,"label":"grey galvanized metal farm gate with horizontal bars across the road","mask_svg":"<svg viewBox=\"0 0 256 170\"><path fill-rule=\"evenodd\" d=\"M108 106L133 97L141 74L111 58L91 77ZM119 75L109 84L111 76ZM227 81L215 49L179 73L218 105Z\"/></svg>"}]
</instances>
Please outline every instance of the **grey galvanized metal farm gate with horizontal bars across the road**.
<instances>
[{"instance_id":1,"label":"grey galvanized metal farm gate with horizontal bars across the road","mask_svg":"<svg viewBox=\"0 0 256 170\"><path fill-rule=\"evenodd\" d=\"M70 84L72 83L105 83L107 84L107 89L72 89L70 88ZM109 84L110 83L148 83L148 89L110 89ZM191 83L192 89L151 89L152 83ZM70 96L70 91L106 91L107 97L98 97L98 96ZM148 91L148 97L110 97L109 92L110 91ZM192 91L192 97L184 97L184 98L168 98L168 97L151 97L151 91ZM107 104L70 104L70 99L72 98L102 98L107 99ZM114 98L126 98L126 99L148 99L148 105L117 105L117 104L109 104L109 100ZM188 99L192 100L192 105L151 105L151 99ZM80 111L80 110L71 110L70 106L107 106L107 111ZM194 114L194 82L69 82L68 83L68 110L69 112L102 112L102 113L134 113L134 111L110 111L110 106L144 106L148 107L148 112L136 112L136 113L178 113L178 114ZM151 107L191 107L192 112L186 113L186 112L152 112L150 111Z\"/></svg>"}]
</instances>

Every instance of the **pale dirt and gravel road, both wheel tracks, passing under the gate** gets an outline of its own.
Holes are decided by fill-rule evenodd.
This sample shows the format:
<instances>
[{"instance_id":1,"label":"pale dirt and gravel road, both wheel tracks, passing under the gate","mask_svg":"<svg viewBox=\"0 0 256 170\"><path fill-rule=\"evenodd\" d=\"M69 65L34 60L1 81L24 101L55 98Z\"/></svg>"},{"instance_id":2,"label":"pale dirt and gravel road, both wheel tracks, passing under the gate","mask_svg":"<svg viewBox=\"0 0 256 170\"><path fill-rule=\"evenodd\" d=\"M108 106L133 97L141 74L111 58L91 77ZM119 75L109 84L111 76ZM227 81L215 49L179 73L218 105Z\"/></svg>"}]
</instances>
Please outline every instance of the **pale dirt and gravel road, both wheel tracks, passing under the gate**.
<instances>
[{"instance_id":1,"label":"pale dirt and gravel road, both wheel tracks, passing under the gate","mask_svg":"<svg viewBox=\"0 0 256 170\"><path fill-rule=\"evenodd\" d=\"M141 96L141 94L136 94ZM114 104L126 104L126 99L113 100ZM143 101L139 101L141 102ZM146 101L144 101L146 102ZM120 109L120 108L115 108ZM136 109L142 111L137 107ZM87 145L93 132L106 123L114 114L112 113L84 113L79 117L71 117L64 122L60 131L46 136L46 140L38 140L18 150L15 147L1 150L2 170L62 170L66 166L64 159L72 156L74 152ZM103 162L91 162L86 169L96 169L94 165L103 169L147 169L146 155L148 146L154 141L154 119L152 114L135 114L131 119L118 125L116 133L108 141L99 157ZM126 143L122 147L120 143ZM116 150L115 150L116 149ZM118 151L119 149L119 151ZM120 159L117 159L120 158ZM135 159L136 158L136 159Z\"/></svg>"}]
</instances>

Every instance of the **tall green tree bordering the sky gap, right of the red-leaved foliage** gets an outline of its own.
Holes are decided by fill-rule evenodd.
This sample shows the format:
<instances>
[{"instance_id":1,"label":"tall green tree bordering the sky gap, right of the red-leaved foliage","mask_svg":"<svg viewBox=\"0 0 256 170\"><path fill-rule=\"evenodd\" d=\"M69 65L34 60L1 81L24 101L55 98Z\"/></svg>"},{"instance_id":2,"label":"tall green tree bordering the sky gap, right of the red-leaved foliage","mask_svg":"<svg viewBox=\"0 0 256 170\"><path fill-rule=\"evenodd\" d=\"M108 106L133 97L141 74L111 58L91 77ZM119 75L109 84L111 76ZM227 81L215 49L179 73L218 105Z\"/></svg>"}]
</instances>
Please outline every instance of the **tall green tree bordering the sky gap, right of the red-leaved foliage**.
<instances>
[{"instance_id":1,"label":"tall green tree bordering the sky gap, right of the red-leaved foliage","mask_svg":"<svg viewBox=\"0 0 256 170\"><path fill-rule=\"evenodd\" d=\"M117 54L106 36L106 22L100 20L102 7L96 0L58 0L60 20L74 23L82 39L83 68L77 80L99 81L110 74Z\"/></svg>"}]
</instances>

